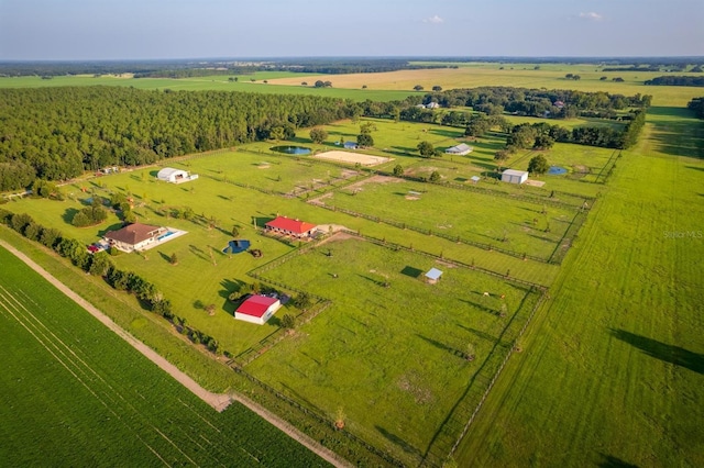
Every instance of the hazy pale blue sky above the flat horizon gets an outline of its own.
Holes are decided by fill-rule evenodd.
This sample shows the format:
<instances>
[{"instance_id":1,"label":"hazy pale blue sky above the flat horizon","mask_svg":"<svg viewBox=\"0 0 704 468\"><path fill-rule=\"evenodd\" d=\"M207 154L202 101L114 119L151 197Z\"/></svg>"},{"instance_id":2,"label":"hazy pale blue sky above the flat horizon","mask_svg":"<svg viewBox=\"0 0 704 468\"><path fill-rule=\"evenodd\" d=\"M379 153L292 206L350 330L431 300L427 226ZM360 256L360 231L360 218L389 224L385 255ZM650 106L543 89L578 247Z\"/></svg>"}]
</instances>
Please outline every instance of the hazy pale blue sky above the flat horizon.
<instances>
[{"instance_id":1,"label":"hazy pale blue sky above the flat horizon","mask_svg":"<svg viewBox=\"0 0 704 468\"><path fill-rule=\"evenodd\" d=\"M682 55L704 0L0 0L0 60Z\"/></svg>"}]
</instances>

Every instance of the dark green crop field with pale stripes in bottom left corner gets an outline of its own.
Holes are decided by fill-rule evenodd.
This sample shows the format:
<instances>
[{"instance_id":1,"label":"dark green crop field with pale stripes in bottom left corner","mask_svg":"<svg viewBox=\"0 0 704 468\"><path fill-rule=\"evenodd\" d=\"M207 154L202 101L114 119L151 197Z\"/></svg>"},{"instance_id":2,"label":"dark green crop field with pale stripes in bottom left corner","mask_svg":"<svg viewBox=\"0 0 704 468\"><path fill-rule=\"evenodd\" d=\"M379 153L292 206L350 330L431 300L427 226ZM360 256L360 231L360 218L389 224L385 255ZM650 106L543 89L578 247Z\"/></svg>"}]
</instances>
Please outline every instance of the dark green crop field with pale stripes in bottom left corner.
<instances>
[{"instance_id":1,"label":"dark green crop field with pale stripes in bottom left corner","mask_svg":"<svg viewBox=\"0 0 704 468\"><path fill-rule=\"evenodd\" d=\"M7 466L327 466L238 403L218 413L0 248Z\"/></svg>"}]
</instances>

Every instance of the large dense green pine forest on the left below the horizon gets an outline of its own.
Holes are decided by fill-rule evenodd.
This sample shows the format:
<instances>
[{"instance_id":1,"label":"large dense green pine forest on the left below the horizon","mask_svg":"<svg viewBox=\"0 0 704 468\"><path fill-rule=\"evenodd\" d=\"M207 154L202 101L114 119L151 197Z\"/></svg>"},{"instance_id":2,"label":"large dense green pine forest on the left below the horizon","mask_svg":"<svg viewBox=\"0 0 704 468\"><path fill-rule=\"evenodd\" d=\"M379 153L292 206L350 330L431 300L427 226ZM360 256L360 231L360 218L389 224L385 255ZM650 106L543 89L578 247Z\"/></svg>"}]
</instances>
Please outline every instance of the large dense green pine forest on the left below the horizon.
<instances>
[{"instance_id":1,"label":"large dense green pine forest on the left below the horizon","mask_svg":"<svg viewBox=\"0 0 704 468\"><path fill-rule=\"evenodd\" d=\"M267 140L344 119L352 103L315 96L122 87L0 90L0 188L106 166Z\"/></svg>"}]
</instances>

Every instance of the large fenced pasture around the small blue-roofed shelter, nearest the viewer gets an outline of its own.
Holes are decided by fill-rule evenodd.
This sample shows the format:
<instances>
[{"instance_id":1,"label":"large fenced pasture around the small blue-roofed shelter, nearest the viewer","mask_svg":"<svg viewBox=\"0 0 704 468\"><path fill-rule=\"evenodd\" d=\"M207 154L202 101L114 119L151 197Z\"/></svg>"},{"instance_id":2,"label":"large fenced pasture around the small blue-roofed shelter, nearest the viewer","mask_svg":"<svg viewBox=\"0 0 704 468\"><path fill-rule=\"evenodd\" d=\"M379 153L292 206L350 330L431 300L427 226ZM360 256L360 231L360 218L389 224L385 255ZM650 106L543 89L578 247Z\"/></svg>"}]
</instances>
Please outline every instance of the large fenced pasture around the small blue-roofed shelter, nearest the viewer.
<instances>
[{"instance_id":1,"label":"large fenced pasture around the small blue-roofed shelter, nearest the viewer","mask_svg":"<svg viewBox=\"0 0 704 468\"><path fill-rule=\"evenodd\" d=\"M431 267L444 271L437 285L424 282ZM333 238L264 276L333 305L248 371L330 419L342 409L345 428L409 465L426 454L468 386L482 385L474 376L493 353L505 353L496 345L512 342L525 320L514 315L537 296L355 238ZM464 357L469 344L473 361Z\"/></svg>"}]
</instances>

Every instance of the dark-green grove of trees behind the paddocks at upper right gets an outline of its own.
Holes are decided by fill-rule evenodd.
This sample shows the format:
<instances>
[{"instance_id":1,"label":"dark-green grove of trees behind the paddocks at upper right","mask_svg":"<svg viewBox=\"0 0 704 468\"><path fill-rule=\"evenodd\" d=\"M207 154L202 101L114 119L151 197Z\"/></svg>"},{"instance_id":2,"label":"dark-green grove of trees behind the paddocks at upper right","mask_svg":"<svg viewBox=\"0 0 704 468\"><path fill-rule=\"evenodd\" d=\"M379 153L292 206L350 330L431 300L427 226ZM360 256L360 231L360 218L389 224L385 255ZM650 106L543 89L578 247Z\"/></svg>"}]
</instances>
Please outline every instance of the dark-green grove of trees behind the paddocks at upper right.
<instances>
[{"instance_id":1,"label":"dark-green grove of trees behind the paddocks at upper right","mask_svg":"<svg viewBox=\"0 0 704 468\"><path fill-rule=\"evenodd\" d=\"M443 108L471 107L477 112L498 115L504 112L516 115L572 119L590 116L616 119L618 110L648 108L652 97L585 92L566 89L526 89L508 87L483 87L452 89L428 93L422 103L437 102Z\"/></svg>"}]
</instances>

